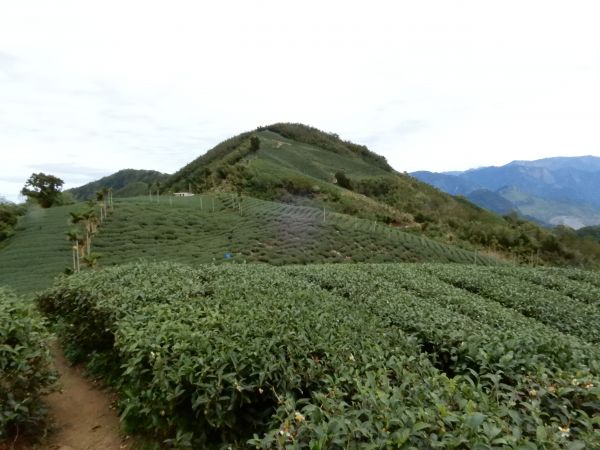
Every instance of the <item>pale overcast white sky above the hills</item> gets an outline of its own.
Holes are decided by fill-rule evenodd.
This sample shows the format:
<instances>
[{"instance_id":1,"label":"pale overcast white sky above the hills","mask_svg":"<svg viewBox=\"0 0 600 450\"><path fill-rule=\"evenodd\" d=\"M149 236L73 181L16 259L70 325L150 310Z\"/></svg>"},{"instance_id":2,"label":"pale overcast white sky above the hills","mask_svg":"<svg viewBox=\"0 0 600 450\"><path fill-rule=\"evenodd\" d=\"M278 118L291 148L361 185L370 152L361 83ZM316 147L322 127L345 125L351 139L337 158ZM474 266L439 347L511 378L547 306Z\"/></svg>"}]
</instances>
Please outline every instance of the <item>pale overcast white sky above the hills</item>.
<instances>
[{"instance_id":1,"label":"pale overcast white sky above the hills","mask_svg":"<svg viewBox=\"0 0 600 450\"><path fill-rule=\"evenodd\" d=\"M399 171L600 156L600 3L0 0L0 196L300 122Z\"/></svg>"}]
</instances>

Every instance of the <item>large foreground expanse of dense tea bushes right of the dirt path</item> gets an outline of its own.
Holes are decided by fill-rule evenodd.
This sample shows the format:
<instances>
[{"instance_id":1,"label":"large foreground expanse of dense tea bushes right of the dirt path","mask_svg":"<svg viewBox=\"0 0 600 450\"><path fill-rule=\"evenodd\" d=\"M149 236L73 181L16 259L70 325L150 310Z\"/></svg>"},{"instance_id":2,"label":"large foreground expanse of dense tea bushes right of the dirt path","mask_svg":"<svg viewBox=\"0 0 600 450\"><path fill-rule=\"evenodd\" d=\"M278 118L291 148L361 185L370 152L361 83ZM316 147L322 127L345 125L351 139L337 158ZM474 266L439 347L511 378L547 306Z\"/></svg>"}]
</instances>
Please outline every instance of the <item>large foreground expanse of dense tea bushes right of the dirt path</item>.
<instances>
[{"instance_id":1,"label":"large foreground expanse of dense tea bushes right of the dirt path","mask_svg":"<svg viewBox=\"0 0 600 450\"><path fill-rule=\"evenodd\" d=\"M600 274L132 263L37 297L175 448L600 448Z\"/></svg>"}]
</instances>

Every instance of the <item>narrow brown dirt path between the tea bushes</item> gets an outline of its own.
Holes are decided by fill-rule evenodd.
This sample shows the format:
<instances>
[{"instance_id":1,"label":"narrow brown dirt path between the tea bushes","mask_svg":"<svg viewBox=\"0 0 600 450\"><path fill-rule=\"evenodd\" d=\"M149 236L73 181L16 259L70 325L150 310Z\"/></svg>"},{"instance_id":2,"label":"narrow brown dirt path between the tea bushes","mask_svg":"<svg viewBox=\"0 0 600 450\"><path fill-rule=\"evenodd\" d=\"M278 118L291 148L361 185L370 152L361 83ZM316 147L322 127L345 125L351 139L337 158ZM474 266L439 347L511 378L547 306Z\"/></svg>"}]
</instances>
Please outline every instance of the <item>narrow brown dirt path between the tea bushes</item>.
<instances>
[{"instance_id":1,"label":"narrow brown dirt path between the tea bushes","mask_svg":"<svg viewBox=\"0 0 600 450\"><path fill-rule=\"evenodd\" d=\"M47 397L53 430L44 450L121 450L131 446L119 433L112 395L70 367L58 345L52 353L61 391Z\"/></svg>"}]
</instances>

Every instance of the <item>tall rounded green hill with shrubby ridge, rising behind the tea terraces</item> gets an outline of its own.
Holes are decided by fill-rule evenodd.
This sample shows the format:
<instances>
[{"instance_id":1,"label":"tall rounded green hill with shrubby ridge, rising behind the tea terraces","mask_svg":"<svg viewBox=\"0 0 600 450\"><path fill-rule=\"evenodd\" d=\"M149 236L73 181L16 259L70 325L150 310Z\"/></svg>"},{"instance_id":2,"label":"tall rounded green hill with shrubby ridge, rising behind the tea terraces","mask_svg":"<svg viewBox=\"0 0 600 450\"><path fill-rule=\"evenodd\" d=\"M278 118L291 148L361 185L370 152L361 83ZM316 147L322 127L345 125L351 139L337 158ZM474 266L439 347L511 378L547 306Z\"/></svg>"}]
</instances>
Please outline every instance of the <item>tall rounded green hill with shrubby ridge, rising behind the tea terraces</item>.
<instances>
[{"instance_id":1,"label":"tall rounded green hill with shrubby ridge, rising behind the tea terraces","mask_svg":"<svg viewBox=\"0 0 600 450\"><path fill-rule=\"evenodd\" d=\"M364 146L300 124L270 125L228 139L176 172L163 189L188 186L326 207L523 262L532 255L549 264L600 261L600 246L569 248L534 223L447 195L394 171Z\"/></svg>"}]
</instances>

